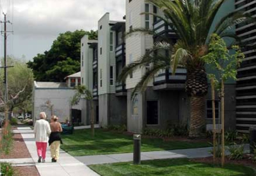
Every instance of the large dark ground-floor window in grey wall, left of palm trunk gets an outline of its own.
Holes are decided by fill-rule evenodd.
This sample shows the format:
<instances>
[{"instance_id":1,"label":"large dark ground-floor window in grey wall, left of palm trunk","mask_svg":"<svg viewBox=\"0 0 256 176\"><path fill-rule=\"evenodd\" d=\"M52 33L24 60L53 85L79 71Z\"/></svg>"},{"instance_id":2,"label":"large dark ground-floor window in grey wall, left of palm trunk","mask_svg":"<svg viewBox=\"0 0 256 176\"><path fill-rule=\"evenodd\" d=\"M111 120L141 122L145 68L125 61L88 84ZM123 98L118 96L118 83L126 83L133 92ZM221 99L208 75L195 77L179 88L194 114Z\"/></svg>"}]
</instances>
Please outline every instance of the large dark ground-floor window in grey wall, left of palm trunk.
<instances>
[{"instance_id":1,"label":"large dark ground-floor window in grey wall, left of palm trunk","mask_svg":"<svg viewBox=\"0 0 256 176\"><path fill-rule=\"evenodd\" d=\"M158 101L147 101L147 125L158 125Z\"/></svg>"}]
</instances>

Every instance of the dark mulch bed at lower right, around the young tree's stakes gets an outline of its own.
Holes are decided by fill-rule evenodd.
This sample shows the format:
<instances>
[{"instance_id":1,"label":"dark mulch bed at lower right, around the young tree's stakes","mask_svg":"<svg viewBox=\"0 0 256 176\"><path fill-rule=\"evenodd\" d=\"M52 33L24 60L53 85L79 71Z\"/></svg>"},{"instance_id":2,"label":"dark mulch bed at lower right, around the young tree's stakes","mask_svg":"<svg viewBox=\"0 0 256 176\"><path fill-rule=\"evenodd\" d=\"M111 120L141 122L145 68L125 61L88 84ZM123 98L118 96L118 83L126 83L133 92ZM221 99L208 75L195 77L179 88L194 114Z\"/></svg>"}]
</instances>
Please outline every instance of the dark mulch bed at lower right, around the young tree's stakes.
<instances>
[{"instance_id":1,"label":"dark mulch bed at lower right, around the young tree's stakes","mask_svg":"<svg viewBox=\"0 0 256 176\"><path fill-rule=\"evenodd\" d=\"M225 157L225 163L226 164L239 164L243 166L249 166L256 168L256 163L253 163L252 157L250 154L244 154L244 159L239 159L239 160L230 160L228 157ZM191 161L199 162L199 163L207 163L207 164L212 164L213 159L212 157L204 157L204 158L196 158L196 159L191 159ZM220 165L221 164L221 158L216 158L216 164Z\"/></svg>"}]
</instances>

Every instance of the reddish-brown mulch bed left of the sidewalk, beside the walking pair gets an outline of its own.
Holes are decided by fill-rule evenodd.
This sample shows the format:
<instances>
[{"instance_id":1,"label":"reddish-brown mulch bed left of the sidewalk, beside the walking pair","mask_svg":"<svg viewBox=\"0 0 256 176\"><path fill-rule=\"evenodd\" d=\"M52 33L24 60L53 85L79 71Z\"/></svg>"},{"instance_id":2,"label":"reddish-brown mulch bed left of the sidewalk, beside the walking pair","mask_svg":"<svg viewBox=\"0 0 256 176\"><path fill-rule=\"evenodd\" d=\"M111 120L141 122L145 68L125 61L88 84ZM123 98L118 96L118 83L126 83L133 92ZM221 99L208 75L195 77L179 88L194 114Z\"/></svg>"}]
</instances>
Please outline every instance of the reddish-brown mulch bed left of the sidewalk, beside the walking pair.
<instances>
[{"instance_id":1,"label":"reddish-brown mulch bed left of the sidewalk, beside the walking pair","mask_svg":"<svg viewBox=\"0 0 256 176\"><path fill-rule=\"evenodd\" d=\"M1 154L0 159L17 159L17 158L30 158L30 154L26 143L24 142L21 134L13 135L13 148L8 155Z\"/></svg>"}]
</instances>

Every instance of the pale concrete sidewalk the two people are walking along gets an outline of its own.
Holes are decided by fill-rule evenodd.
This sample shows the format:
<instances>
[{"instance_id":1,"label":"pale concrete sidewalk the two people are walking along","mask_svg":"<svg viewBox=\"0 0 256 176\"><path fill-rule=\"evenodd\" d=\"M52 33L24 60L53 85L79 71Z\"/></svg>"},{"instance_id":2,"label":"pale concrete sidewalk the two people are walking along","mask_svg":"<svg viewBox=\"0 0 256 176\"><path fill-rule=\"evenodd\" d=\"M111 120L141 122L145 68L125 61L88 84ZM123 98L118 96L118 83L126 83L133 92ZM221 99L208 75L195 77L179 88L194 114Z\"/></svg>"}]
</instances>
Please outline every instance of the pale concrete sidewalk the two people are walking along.
<instances>
[{"instance_id":1,"label":"pale concrete sidewalk the two people are walking along","mask_svg":"<svg viewBox=\"0 0 256 176\"><path fill-rule=\"evenodd\" d=\"M20 132L22 135L22 138L24 139L29 153L33 159L33 164L35 164L41 176L99 176L97 173L90 170L90 168L88 168L86 165L78 161L76 158L70 156L66 152L63 152L62 150L60 152L60 161L58 163L51 163L49 147L47 148L46 162L37 163L38 156L36 153L33 131L29 127L20 127L15 132Z\"/></svg>"}]
</instances>

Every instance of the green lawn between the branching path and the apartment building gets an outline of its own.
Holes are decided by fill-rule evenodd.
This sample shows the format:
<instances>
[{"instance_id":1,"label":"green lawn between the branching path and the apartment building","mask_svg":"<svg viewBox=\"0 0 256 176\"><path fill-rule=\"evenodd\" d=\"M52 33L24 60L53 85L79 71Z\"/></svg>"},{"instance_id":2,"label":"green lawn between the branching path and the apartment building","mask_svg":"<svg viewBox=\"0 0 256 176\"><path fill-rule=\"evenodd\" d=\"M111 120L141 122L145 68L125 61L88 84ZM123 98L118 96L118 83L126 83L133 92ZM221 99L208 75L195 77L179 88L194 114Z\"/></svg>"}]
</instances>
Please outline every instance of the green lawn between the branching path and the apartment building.
<instances>
[{"instance_id":1,"label":"green lawn between the branching path and the apartment building","mask_svg":"<svg viewBox=\"0 0 256 176\"><path fill-rule=\"evenodd\" d=\"M94 139L91 137L90 129L77 130L74 134L62 136L62 138L61 148L72 156L129 153L133 150L132 136L103 129L95 129ZM191 143L149 138L143 138L141 143L142 152L210 146L207 142Z\"/></svg>"}]
</instances>

